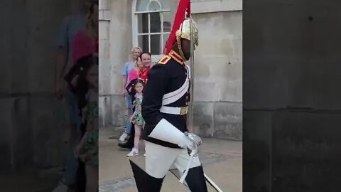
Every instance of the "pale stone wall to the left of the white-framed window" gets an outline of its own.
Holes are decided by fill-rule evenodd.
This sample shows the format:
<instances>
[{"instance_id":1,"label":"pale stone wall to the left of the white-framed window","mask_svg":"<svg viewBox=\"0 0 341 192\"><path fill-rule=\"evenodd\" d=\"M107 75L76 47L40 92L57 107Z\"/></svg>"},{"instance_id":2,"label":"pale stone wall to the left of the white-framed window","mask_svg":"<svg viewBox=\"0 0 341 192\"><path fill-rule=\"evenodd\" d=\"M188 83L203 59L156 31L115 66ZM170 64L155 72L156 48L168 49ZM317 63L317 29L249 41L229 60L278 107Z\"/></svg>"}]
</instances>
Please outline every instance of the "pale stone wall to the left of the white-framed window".
<instances>
[{"instance_id":1,"label":"pale stone wall to the left of the white-framed window","mask_svg":"<svg viewBox=\"0 0 341 192\"><path fill-rule=\"evenodd\" d=\"M99 33L102 34L99 51L105 54L101 53L99 58L99 121L102 127L124 124L126 104L121 97L121 68L129 60L132 47L131 1L108 0L106 5L110 14L105 19L99 17Z\"/></svg>"}]
</instances>

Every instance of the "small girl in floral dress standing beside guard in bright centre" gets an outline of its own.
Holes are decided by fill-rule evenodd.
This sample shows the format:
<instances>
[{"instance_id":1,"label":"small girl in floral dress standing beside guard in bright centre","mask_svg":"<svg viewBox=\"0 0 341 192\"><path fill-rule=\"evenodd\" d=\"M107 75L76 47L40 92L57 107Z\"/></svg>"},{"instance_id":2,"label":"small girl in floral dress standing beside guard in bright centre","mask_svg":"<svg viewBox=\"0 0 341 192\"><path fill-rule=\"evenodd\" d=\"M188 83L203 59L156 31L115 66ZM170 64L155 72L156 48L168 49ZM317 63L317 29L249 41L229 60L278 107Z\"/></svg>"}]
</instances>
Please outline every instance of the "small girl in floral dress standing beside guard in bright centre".
<instances>
[{"instance_id":1,"label":"small girl in floral dress standing beside guard in bright centre","mask_svg":"<svg viewBox=\"0 0 341 192\"><path fill-rule=\"evenodd\" d=\"M133 87L135 91L135 100L134 100L134 107L135 112L131 116L130 121L135 125L135 137L134 137L134 148L131 149L130 153L127 156L136 156L139 155L139 142L141 136L141 129L144 128L144 118L141 114L141 105L143 100L143 90L144 90L144 81L137 80Z\"/></svg>"}]
</instances>

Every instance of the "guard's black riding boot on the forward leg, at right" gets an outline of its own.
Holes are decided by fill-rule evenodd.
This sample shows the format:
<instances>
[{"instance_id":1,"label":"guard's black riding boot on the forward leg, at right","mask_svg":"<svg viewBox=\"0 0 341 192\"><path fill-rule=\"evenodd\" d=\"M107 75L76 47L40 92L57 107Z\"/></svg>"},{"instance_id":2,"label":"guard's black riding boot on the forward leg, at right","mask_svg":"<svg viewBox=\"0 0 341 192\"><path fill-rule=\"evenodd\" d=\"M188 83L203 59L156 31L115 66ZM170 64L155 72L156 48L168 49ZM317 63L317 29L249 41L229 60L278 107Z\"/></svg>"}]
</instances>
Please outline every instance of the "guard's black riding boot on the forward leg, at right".
<instances>
[{"instance_id":1,"label":"guard's black riding boot on the forward leg, at right","mask_svg":"<svg viewBox=\"0 0 341 192\"><path fill-rule=\"evenodd\" d=\"M193 167L188 171L185 178L190 191L207 192L206 180L202 166Z\"/></svg>"}]
</instances>

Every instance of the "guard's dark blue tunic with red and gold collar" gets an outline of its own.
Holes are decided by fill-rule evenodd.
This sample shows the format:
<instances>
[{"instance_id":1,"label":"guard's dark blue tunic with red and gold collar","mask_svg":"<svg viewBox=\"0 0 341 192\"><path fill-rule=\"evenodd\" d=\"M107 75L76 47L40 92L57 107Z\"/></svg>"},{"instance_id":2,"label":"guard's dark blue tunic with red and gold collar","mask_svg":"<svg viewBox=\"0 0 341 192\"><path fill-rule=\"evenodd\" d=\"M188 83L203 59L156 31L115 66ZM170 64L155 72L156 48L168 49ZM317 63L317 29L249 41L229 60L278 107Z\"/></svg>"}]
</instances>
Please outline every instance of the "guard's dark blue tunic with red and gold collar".
<instances>
[{"instance_id":1,"label":"guard's dark blue tunic with red and gold collar","mask_svg":"<svg viewBox=\"0 0 341 192\"><path fill-rule=\"evenodd\" d=\"M148 82L144 87L144 100L142 102L142 117L146 122L142 138L148 142L167 146L171 148L180 148L177 144L163 142L159 139L148 137L153 131L156 124L161 119L166 119L168 122L177 127L181 132L187 132L185 115L181 114L166 114L160 112L162 106L163 95L178 90L183 86L187 78L186 66L183 63L180 55L171 51L156 65L151 68L148 73ZM189 90L179 100L165 105L168 107L187 107L189 101Z\"/></svg>"}]
</instances>

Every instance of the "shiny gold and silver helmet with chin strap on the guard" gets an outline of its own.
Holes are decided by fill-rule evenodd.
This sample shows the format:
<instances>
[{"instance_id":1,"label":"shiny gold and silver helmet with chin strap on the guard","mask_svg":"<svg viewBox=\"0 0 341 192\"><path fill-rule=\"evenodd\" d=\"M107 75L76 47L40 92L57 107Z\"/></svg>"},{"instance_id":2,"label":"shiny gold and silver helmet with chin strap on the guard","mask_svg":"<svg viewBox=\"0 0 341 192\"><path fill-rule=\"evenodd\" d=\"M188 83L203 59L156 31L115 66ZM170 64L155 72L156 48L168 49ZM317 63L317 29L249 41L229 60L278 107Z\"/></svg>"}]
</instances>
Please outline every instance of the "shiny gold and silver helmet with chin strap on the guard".
<instances>
[{"instance_id":1,"label":"shiny gold and silver helmet with chin strap on the guard","mask_svg":"<svg viewBox=\"0 0 341 192\"><path fill-rule=\"evenodd\" d=\"M193 33L192 36L190 33ZM193 43L193 47L198 46L199 41L198 41L198 31L197 31L197 23L193 20L193 18L185 18L183 23L181 23L180 28L178 31L175 33L176 36L176 41L178 43L178 48L181 57L183 60L187 60L185 56L183 55L183 50L181 49L181 41L180 38L185 38L189 40L191 43ZM193 37L193 40L191 39Z\"/></svg>"}]
</instances>

